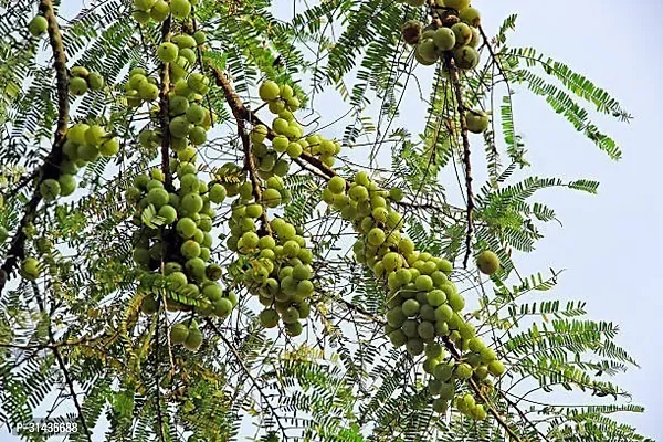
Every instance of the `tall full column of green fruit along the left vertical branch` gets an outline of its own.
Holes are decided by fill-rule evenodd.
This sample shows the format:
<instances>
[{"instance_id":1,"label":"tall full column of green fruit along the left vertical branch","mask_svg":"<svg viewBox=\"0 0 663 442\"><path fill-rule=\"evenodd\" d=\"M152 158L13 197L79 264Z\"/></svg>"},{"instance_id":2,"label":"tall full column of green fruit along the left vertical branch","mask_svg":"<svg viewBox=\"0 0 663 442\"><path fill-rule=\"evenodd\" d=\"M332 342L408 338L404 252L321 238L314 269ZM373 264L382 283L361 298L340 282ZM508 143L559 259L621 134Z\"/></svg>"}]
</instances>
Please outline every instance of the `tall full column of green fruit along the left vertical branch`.
<instances>
[{"instance_id":1,"label":"tall full column of green fruit along the left vertical branch","mask_svg":"<svg viewBox=\"0 0 663 442\"><path fill-rule=\"evenodd\" d=\"M150 4L154 8L157 3L148 1L137 6ZM187 4L190 11L190 3ZM170 11L180 18L175 13L175 1L170 3ZM211 114L202 106L209 78L201 73L189 73L187 69L196 60L191 57L192 48L203 40L201 32L196 38L177 34L159 45L157 56L164 66L168 65L173 83L168 85L170 92L165 101L168 117L166 122L159 117L165 114L160 108L164 101L155 104L150 114L156 129L146 127L139 143L154 146L167 141L176 154L169 158L168 172L172 179L167 179L164 170L152 169L149 175L136 177L126 192L127 201L136 209L134 223L143 227L135 233L134 260L146 271L138 287L144 294L141 311L146 314L157 312L164 298L168 311L193 312L201 317L227 317L238 303L235 294L219 284L221 266L210 262L213 243L210 231L215 215L212 204L223 202L227 190L214 180L207 182L198 176L196 146L206 141L211 127ZM187 63L178 64L180 59ZM130 106L155 101L160 94L158 81L148 78L146 71L139 67L130 71L127 84ZM156 218L160 220L158 227ZM155 275L164 277L156 283L159 278ZM202 335L192 320L186 334L181 325L175 325L170 337L171 343L183 344L190 350L198 349L202 343Z\"/></svg>"}]
</instances>

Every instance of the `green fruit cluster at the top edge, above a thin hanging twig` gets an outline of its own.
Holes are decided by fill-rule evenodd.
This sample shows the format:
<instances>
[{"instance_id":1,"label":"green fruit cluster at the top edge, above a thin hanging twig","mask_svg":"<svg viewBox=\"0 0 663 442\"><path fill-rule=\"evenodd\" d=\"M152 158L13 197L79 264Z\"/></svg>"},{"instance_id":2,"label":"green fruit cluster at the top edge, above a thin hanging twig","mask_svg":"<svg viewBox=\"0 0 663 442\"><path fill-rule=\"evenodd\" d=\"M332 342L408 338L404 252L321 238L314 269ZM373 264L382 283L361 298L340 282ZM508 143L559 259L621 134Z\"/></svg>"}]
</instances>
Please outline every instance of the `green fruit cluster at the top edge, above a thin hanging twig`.
<instances>
[{"instance_id":1,"label":"green fruit cluster at the top edge, above a thin hanging twig","mask_svg":"<svg viewBox=\"0 0 663 442\"><path fill-rule=\"evenodd\" d=\"M470 7L470 0L435 0L433 8L433 21L428 27L415 20L402 27L403 40L414 46L414 59L423 65L432 65L451 55L461 70L476 67L480 62L476 51L478 10Z\"/></svg>"}]
</instances>

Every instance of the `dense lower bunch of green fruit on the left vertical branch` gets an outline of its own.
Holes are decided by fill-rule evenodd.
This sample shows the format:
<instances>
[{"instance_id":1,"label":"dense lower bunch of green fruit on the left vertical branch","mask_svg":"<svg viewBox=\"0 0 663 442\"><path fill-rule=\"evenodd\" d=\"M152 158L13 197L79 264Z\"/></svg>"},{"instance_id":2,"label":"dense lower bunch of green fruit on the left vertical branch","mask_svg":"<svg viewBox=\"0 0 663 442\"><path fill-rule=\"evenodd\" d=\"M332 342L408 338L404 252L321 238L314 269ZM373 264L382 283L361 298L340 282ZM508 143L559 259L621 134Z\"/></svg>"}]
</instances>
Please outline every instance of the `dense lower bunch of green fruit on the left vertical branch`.
<instances>
[{"instance_id":1,"label":"dense lower bunch of green fruit on the left vertical branch","mask_svg":"<svg viewBox=\"0 0 663 442\"><path fill-rule=\"evenodd\" d=\"M176 161L173 159L173 161ZM152 169L150 176L140 175L134 187L127 190L126 198L136 207L134 222L143 222L143 211L149 210L162 220L162 227L144 225L135 233L134 261L146 271L165 275L167 294L166 308L170 312L194 311L202 317L227 317L236 304L233 292L223 290L218 281L221 266L210 262L212 246L212 219L215 215L212 203L225 198L225 190L219 183L200 180L193 162L180 162L176 171L179 189L168 192L164 186L164 175ZM175 185L173 185L175 186ZM149 286L146 278L139 290L147 295L143 298L141 311L152 314L158 311L161 296L157 287Z\"/></svg>"}]
</instances>

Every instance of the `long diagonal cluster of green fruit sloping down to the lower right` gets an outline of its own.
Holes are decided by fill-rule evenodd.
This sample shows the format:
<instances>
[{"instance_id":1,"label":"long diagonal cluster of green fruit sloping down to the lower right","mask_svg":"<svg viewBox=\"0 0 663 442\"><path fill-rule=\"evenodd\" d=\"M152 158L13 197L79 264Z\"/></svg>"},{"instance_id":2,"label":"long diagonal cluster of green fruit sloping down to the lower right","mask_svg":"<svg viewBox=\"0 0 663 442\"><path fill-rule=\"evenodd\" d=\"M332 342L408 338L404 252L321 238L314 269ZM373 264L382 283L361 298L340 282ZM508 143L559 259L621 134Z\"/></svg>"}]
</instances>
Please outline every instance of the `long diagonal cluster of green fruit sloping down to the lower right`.
<instances>
[{"instance_id":1,"label":"long diagonal cluster of green fruit sloping down to the lower right","mask_svg":"<svg viewBox=\"0 0 663 442\"><path fill-rule=\"evenodd\" d=\"M402 199L400 189L388 192L366 172L358 172L349 187L341 177L332 178L323 199L352 223L361 235L354 245L356 260L389 290L385 326L389 339L412 356L425 354L423 369L431 375L429 391L435 398L435 411L446 410L457 382L485 381L488 375L504 373L495 352L461 316L465 299L449 280L452 263L417 251L412 240L402 236L402 217L391 207ZM455 344L461 358L446 358L439 338ZM457 408L472 418L485 418L483 407L474 402Z\"/></svg>"}]
</instances>

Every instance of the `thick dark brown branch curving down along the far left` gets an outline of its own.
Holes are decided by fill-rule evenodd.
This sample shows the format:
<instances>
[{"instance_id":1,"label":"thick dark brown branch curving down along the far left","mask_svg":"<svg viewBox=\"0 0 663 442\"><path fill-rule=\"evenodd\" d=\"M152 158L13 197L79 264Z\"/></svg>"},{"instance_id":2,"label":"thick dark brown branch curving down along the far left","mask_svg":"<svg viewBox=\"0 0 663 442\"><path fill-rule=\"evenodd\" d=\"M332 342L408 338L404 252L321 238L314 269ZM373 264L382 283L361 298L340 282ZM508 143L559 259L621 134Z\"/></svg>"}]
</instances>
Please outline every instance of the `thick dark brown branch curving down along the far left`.
<instances>
[{"instance_id":1,"label":"thick dark brown branch curving down along the far left","mask_svg":"<svg viewBox=\"0 0 663 442\"><path fill-rule=\"evenodd\" d=\"M11 246L7 252L7 256L2 266L0 266L0 293L4 288L4 285L10 280L13 270L25 257L25 228L32 223L36 218L36 208L41 202L42 198L39 191L40 185L49 178L57 178L60 173L60 164L62 162L62 145L65 141L66 129L69 123L69 76L66 71L66 55L64 53L64 45L62 43L62 34L57 20L55 19L55 11L53 10L53 2L51 0L41 0L39 10L46 19L49 43L53 51L53 67L55 70L55 80L57 88L57 126L54 134L53 147L44 159L44 162L38 169L35 189L32 193L32 198L25 206L25 212L17 233L11 242ZM4 273L4 275L2 275ZM1 277L6 276L6 277Z\"/></svg>"}]
</instances>

